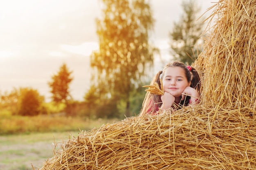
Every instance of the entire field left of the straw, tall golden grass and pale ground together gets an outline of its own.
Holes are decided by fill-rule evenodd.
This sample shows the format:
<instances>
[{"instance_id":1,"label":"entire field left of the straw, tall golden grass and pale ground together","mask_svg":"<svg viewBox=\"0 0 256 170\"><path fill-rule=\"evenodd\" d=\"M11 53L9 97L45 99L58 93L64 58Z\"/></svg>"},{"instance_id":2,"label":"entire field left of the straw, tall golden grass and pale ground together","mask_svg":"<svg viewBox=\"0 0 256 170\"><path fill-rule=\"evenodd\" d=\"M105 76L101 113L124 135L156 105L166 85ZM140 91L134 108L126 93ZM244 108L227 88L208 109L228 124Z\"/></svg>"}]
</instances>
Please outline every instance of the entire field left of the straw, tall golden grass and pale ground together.
<instances>
[{"instance_id":1,"label":"entire field left of the straw, tall golden grass and pale ground together","mask_svg":"<svg viewBox=\"0 0 256 170\"><path fill-rule=\"evenodd\" d=\"M5 117L0 120L0 170L38 170L53 157L54 143L117 119ZM54 142L55 141L55 142ZM32 165L33 167L32 167Z\"/></svg>"}]
</instances>

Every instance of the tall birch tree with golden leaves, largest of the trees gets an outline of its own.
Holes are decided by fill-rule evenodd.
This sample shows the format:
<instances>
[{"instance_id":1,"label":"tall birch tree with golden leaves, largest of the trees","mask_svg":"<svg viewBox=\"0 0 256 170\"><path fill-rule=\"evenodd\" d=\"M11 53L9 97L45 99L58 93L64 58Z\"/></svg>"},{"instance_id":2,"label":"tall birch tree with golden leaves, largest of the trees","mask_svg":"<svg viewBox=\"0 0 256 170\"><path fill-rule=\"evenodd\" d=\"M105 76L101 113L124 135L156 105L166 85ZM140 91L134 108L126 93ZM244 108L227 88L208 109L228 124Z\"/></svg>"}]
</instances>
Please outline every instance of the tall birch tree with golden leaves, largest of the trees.
<instances>
[{"instance_id":1,"label":"tall birch tree with golden leaves, largest of the trees","mask_svg":"<svg viewBox=\"0 0 256 170\"><path fill-rule=\"evenodd\" d=\"M92 88L100 88L101 99L115 105L126 103L153 65L153 46L148 43L153 28L150 4L146 0L102 0L104 18L97 20L99 51L90 56ZM113 103L111 103L113 104Z\"/></svg>"}]
</instances>

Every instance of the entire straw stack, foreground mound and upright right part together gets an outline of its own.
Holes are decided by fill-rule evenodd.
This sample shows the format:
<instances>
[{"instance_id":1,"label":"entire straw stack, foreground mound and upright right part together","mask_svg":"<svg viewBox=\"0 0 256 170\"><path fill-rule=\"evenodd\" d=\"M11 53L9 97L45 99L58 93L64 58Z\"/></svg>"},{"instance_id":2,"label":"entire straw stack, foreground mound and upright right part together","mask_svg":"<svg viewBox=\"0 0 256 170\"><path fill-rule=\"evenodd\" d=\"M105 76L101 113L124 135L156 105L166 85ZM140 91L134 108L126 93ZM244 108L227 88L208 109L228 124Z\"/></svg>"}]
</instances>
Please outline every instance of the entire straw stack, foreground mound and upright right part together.
<instances>
[{"instance_id":1,"label":"entire straw stack, foreground mound and upright right part together","mask_svg":"<svg viewBox=\"0 0 256 170\"><path fill-rule=\"evenodd\" d=\"M196 61L201 104L84 132L41 170L256 169L256 1L214 7L216 25Z\"/></svg>"}]
</instances>

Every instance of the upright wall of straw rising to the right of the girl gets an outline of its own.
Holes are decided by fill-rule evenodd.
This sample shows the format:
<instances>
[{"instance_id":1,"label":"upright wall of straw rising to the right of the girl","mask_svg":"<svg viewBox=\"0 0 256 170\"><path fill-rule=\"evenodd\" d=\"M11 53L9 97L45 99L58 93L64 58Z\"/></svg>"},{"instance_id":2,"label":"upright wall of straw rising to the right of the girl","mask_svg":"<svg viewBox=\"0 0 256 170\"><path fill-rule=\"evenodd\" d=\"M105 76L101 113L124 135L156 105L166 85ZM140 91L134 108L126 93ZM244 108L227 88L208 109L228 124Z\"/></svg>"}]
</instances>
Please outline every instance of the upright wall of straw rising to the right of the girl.
<instances>
[{"instance_id":1,"label":"upright wall of straw rising to the right of the girl","mask_svg":"<svg viewBox=\"0 0 256 170\"><path fill-rule=\"evenodd\" d=\"M214 106L256 110L256 1L220 0L204 53L202 99ZM212 18L211 18L212 19Z\"/></svg>"}]
</instances>

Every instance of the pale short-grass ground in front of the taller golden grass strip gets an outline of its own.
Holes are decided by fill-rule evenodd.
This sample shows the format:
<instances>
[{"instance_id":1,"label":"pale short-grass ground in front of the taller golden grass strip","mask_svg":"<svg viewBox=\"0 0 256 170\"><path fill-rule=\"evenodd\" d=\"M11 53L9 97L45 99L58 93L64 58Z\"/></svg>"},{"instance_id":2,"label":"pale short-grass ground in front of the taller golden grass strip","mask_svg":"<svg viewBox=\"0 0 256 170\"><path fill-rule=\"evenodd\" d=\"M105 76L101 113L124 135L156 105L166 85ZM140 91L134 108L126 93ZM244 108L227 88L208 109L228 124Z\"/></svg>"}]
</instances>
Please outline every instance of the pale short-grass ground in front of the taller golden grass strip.
<instances>
[{"instance_id":1,"label":"pale short-grass ground in front of the taller golden grass strip","mask_svg":"<svg viewBox=\"0 0 256 170\"><path fill-rule=\"evenodd\" d=\"M0 170L38 170L53 157L54 141L68 137L69 132L0 136Z\"/></svg>"}]
</instances>

